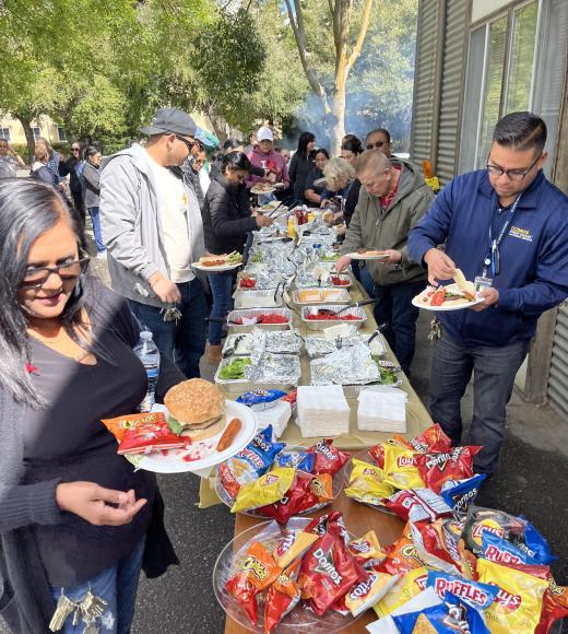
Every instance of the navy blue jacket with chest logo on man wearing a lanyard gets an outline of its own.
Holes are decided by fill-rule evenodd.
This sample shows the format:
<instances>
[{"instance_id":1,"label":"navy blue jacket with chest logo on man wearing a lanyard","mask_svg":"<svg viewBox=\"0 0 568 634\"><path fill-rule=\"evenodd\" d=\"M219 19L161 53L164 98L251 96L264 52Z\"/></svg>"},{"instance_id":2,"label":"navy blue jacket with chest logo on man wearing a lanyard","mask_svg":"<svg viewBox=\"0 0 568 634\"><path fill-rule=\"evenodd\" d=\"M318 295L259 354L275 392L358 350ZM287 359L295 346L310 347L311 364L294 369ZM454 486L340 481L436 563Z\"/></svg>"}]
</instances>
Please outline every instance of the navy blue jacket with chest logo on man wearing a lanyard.
<instances>
[{"instance_id":1,"label":"navy blue jacket with chest logo on man wearing a lanyard","mask_svg":"<svg viewBox=\"0 0 568 634\"><path fill-rule=\"evenodd\" d=\"M446 242L447 255L468 280L474 280L484 268L497 209L487 172L457 176L411 231L410 257L423 262L428 249ZM494 235L506 213L497 220ZM522 193L499 251L500 274L493 282L499 291L498 305L480 313L438 313L446 331L461 345L498 347L530 339L541 314L568 296L568 197L542 172Z\"/></svg>"}]
</instances>

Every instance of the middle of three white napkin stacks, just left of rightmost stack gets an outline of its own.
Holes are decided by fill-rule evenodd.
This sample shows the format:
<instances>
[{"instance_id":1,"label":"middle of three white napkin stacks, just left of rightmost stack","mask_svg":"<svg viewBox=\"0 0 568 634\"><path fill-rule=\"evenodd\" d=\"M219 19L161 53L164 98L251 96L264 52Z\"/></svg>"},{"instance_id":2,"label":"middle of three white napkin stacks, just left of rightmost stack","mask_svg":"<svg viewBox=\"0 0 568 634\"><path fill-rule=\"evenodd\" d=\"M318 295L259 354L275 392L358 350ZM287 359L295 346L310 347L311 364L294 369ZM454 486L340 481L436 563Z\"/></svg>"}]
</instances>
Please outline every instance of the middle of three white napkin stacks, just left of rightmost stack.
<instances>
[{"instance_id":1,"label":"middle of three white napkin stacks, just left of rightmost stack","mask_svg":"<svg viewBox=\"0 0 568 634\"><path fill-rule=\"evenodd\" d=\"M298 387L297 422L304 438L350 431L350 406L341 385Z\"/></svg>"}]
</instances>

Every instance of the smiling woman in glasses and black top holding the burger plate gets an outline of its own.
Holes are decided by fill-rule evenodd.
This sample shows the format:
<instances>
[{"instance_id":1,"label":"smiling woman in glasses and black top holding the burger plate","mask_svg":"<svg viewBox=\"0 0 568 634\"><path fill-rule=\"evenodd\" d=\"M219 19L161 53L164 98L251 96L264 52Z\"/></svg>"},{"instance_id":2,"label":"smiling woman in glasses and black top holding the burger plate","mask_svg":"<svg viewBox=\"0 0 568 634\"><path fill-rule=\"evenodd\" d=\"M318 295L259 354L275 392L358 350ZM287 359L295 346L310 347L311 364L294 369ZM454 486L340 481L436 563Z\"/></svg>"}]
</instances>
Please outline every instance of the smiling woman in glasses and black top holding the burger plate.
<instances>
[{"instance_id":1,"label":"smiling woman in glasses and black top holding the burger plate","mask_svg":"<svg viewBox=\"0 0 568 634\"><path fill-rule=\"evenodd\" d=\"M0 183L0 614L37 634L59 603L64 633L83 631L88 614L129 632L142 562L157 576L177 561L155 477L118 456L100 422L145 396L139 327L87 277L54 187ZM180 378L162 365L159 395Z\"/></svg>"}]
</instances>

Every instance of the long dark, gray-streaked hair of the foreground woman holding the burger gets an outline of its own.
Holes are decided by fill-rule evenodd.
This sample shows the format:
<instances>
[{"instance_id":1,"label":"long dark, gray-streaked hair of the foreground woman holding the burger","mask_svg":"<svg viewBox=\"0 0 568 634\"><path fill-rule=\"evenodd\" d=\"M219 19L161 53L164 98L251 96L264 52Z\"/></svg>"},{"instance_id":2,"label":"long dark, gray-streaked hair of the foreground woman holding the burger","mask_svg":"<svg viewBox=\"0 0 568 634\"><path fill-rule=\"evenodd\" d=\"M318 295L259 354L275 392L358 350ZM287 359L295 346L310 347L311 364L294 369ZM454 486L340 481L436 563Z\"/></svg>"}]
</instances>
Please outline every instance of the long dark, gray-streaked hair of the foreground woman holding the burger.
<instances>
[{"instance_id":1,"label":"long dark, gray-streaked hair of the foreground woman holding the burger","mask_svg":"<svg viewBox=\"0 0 568 634\"><path fill-rule=\"evenodd\" d=\"M32 383L26 364L31 363L26 337L27 318L17 301L17 289L24 277L32 244L64 218L81 245L76 222L54 187L32 178L0 180L0 384L16 402L34 409L45 403ZM79 341L76 329L82 325L83 281L61 314L64 330Z\"/></svg>"}]
</instances>

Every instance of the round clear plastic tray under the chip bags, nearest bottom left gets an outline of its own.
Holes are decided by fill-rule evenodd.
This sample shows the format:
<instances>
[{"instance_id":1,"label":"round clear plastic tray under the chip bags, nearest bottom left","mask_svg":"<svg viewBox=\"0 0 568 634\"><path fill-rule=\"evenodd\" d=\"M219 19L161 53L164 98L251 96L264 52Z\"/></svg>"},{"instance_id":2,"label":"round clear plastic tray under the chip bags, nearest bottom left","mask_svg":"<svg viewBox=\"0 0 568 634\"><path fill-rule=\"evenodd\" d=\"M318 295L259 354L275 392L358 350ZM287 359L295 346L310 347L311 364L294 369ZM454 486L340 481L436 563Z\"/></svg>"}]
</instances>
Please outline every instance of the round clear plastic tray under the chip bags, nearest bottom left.
<instances>
[{"instance_id":1,"label":"round clear plastic tray under the chip bags, nearest bottom left","mask_svg":"<svg viewBox=\"0 0 568 634\"><path fill-rule=\"evenodd\" d=\"M269 552L272 552L282 539L292 532L304 529L309 521L308 518L293 517L285 528L281 528L275 521L264 521L239 533L221 551L213 568L215 597L223 610L248 632L264 633L264 596L267 592L258 595L258 619L257 624L252 625L236 598L227 592L225 584L233 576L253 542L259 541ZM353 538L353 536L351 537ZM279 623L274 631L275 634L334 634L348 627L358 619L358 617L354 618L351 614L340 614L331 609L323 617L317 617L307 606L306 601L299 601Z\"/></svg>"}]
</instances>

